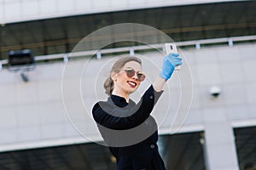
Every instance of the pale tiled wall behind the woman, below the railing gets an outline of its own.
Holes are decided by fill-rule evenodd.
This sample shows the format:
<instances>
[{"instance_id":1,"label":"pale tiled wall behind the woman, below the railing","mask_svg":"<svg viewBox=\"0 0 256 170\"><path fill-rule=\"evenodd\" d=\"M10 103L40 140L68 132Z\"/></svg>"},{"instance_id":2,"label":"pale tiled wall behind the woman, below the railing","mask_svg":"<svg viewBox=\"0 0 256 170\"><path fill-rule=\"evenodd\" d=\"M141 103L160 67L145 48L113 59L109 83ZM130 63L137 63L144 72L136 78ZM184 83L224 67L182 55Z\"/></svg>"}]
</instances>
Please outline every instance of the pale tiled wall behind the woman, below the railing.
<instances>
[{"instance_id":1,"label":"pale tiled wall behind the woman, below the railing","mask_svg":"<svg viewBox=\"0 0 256 170\"><path fill-rule=\"evenodd\" d=\"M179 132L203 130L206 122L221 120L223 116L229 126L256 125L255 44L199 50L193 48L183 50L183 54L189 60L192 71L194 96L188 117ZM146 60L144 71L149 79L133 95L135 100L139 99L138 96L154 80L153 77L157 75L157 69L161 65L162 58L158 54L143 56ZM64 110L61 95L64 63L37 65L34 71L27 73L30 82L22 82L18 73L0 70L0 150L88 141L74 130L70 121L89 136L89 140L99 139L96 126L90 119L90 110L97 99L107 97L103 94L102 81L108 76L108 65L112 62L106 64L106 61L111 59L92 59L90 65L86 66L87 70L81 78L85 109L81 96L75 95L76 92L80 93L76 81L80 80L81 73L77 73L79 68L84 67L84 62L69 61L70 68L75 68L67 72L64 80L69 87L64 90L69 117ZM96 79L95 74L98 72L100 74ZM91 84L95 84L96 88L91 87ZM221 88L218 99L211 99L209 89L212 85ZM168 82L165 93L154 109L154 116L160 124L160 133L171 132L180 91L186 93L188 89L189 87L179 88L177 75Z\"/></svg>"}]
</instances>

